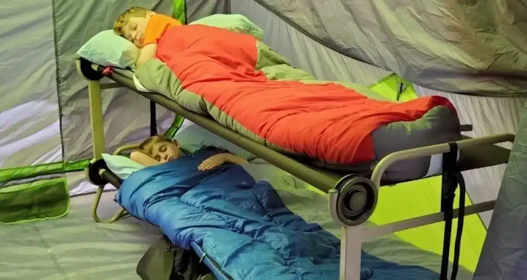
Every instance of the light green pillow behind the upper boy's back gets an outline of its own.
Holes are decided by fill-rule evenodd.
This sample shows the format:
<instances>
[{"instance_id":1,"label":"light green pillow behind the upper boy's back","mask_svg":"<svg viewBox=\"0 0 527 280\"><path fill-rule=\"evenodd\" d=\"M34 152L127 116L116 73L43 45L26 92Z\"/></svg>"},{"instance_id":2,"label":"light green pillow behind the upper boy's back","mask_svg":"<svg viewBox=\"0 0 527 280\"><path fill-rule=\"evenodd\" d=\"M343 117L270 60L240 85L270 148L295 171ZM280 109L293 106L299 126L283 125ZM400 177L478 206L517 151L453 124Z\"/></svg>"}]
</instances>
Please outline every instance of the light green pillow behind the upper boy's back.
<instances>
[{"instance_id":1,"label":"light green pillow behind the upper boy's back","mask_svg":"<svg viewBox=\"0 0 527 280\"><path fill-rule=\"evenodd\" d=\"M206 16L193 21L190 24L202 24L219 28L226 28L230 31L239 32L243 34L249 34L253 37L262 41L264 39L264 31L256 24L249 21L249 19L243 15L225 15L215 14Z\"/></svg>"}]
</instances>

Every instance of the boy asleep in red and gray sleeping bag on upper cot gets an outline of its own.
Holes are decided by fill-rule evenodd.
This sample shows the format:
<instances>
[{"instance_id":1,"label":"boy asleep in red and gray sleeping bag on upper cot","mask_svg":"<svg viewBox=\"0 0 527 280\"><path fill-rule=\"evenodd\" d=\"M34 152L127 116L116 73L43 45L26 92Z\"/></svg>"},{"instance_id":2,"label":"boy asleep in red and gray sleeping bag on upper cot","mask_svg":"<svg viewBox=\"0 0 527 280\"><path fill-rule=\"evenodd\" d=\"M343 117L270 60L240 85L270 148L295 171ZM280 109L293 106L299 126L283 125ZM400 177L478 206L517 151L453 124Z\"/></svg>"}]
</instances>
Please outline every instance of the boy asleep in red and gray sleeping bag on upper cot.
<instances>
[{"instance_id":1,"label":"boy asleep in red and gray sleeping bag on upper cot","mask_svg":"<svg viewBox=\"0 0 527 280\"><path fill-rule=\"evenodd\" d=\"M453 105L441 96L400 103L368 98L333 82L278 81L265 70L284 71L287 67L280 67L285 62L257 38L224 28L182 25L144 8L124 12L114 31L141 48L138 72L152 58L164 63L160 67L177 81L169 85L171 92L162 94L181 106L209 114L276 151L327 164L369 166L376 160L372 133L377 128L416 121L436 106L446 106L455 115ZM401 132L404 137L410 134Z\"/></svg>"}]
</instances>

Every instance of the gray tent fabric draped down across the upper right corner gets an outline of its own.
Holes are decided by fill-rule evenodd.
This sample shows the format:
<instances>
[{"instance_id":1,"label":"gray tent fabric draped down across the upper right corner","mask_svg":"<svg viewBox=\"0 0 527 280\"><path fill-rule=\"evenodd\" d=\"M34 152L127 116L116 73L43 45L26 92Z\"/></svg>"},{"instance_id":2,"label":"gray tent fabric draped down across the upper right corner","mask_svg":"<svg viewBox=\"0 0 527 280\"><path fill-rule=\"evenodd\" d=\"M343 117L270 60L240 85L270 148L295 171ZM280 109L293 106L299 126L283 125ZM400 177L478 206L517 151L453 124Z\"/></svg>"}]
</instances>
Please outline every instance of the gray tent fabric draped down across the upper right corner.
<instances>
[{"instance_id":1,"label":"gray tent fabric draped down across the upper right corner","mask_svg":"<svg viewBox=\"0 0 527 280\"><path fill-rule=\"evenodd\" d=\"M527 95L525 78L502 75L527 72L525 1L255 1L324 45L415 84Z\"/></svg>"}]
</instances>

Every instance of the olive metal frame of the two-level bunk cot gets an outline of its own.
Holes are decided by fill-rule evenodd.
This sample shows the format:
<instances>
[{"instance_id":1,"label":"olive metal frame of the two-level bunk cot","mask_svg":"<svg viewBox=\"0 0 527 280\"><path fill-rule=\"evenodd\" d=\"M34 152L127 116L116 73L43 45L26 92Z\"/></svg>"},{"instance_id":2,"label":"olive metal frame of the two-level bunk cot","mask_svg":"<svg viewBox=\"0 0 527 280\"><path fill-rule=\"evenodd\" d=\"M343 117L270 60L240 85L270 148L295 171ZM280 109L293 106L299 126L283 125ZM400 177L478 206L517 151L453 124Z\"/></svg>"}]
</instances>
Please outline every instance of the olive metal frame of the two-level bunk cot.
<instances>
[{"instance_id":1,"label":"olive metal frame of the two-level bunk cot","mask_svg":"<svg viewBox=\"0 0 527 280\"><path fill-rule=\"evenodd\" d=\"M110 219L102 219L97 215L97 207L103 193L104 185L111 183L120 186L121 179L113 174L102 161L104 153L104 124L101 102L101 90L107 88L127 87L132 91L160 104L161 106L189 119L212 133L215 133L243 149L255 154L267 162L283 169L302 181L329 194L328 208L334 221L342 226L341 231L341 254L340 254L340 279L359 280L360 278L360 254L362 242L371 237L385 235L402 231L404 229L424 226L445 221L445 212L424 215L421 217L406 219L374 227L367 227L363 223L373 214L377 204L378 189L383 186L382 175L387 167L395 162L414 159L435 154L446 154L451 152L452 144L455 144L461 152L457 171L483 168L507 163L510 149L494 144L513 142L514 134L499 134L480 138L466 138L455 143L443 143L426 147L419 147L392 153L379 161L369 178L353 174L331 172L307 166L272 149L258 144L231 129L226 128L213 119L191 112L171 99L157 93L138 91L130 76L114 71L106 76L116 83L101 83L104 67L92 64L85 59L77 59L77 70L88 81L90 118L93 142L93 159L91 165L86 169L87 177L92 183L98 185L95 200L93 202L92 216L95 222L112 223L117 221L126 212L121 209ZM114 154L133 149L136 145L128 145L119 148ZM359 206L354 205L359 201ZM464 215L490 211L494 208L495 201L487 201L464 207ZM353 214L349 214L350 208ZM357 209L358 210L354 210ZM459 215L459 210L454 209L451 218ZM450 235L450 234L449 234ZM350 261L348 261L348 259Z\"/></svg>"}]
</instances>

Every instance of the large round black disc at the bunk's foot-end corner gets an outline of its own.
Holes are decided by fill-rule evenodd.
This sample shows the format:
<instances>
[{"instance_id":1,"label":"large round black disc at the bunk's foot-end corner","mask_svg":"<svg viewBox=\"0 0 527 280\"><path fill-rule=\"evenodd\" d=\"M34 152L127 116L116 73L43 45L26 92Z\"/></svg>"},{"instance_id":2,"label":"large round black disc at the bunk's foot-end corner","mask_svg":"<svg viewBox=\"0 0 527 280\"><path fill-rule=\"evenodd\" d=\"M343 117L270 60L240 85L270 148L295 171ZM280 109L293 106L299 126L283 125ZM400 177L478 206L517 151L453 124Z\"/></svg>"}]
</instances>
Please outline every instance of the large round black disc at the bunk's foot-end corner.
<instances>
[{"instance_id":1,"label":"large round black disc at the bunk's foot-end corner","mask_svg":"<svg viewBox=\"0 0 527 280\"><path fill-rule=\"evenodd\" d=\"M337 215L348 226L360 225L372 216L377 205L375 184L361 176L349 177L339 183Z\"/></svg>"}]
</instances>

